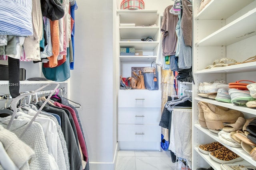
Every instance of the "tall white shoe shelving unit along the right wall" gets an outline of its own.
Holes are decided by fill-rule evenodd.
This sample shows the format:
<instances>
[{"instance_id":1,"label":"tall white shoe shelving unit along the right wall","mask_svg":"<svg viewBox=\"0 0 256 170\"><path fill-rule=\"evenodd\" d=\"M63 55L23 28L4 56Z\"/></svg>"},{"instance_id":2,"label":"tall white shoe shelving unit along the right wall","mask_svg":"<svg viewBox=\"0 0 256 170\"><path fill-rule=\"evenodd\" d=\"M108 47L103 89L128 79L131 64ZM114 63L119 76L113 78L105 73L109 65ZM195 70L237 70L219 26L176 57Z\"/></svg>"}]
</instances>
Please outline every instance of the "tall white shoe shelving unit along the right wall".
<instances>
[{"instance_id":1,"label":"tall white shoe shelving unit along the right wall","mask_svg":"<svg viewBox=\"0 0 256 170\"><path fill-rule=\"evenodd\" d=\"M199 12L200 0L193 0L193 127L192 127L192 169L220 169L220 163L198 151L198 145L219 141L218 135L202 128L198 121L199 101L236 109L244 113L245 118L256 117L256 109L246 106L218 102L197 97L200 82L225 80L227 83L238 80L256 82L256 62L234 64L231 66L205 69L214 60L231 58L238 62L256 55L256 1L255 0L211 0ZM230 64L230 63L228 63ZM221 142L220 142L221 143ZM223 143L222 143L223 144ZM242 158L238 164L252 164L254 160L241 147L230 147L223 144Z\"/></svg>"}]
</instances>

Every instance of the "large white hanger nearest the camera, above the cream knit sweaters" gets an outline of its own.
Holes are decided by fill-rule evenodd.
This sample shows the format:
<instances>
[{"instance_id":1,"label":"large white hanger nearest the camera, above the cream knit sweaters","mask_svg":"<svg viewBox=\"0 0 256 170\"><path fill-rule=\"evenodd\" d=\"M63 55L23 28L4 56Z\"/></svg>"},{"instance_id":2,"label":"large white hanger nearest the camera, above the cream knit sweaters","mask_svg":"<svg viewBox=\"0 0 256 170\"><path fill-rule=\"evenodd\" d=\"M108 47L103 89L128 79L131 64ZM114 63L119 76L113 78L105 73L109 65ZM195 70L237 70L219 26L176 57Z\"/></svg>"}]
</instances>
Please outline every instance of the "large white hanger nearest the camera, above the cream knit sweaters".
<instances>
[{"instance_id":1,"label":"large white hanger nearest the camera, above the cream knit sweaters","mask_svg":"<svg viewBox=\"0 0 256 170\"><path fill-rule=\"evenodd\" d=\"M54 91L49 95L49 97L46 99L46 101L42 104L42 106L38 109L38 111L36 112L36 114L34 115L34 117L31 119L31 121L28 123L28 125L26 126L26 128L24 129L24 131L20 134L19 138L21 138L24 133L27 131L27 129L30 127L30 125L33 123L33 121L36 119L37 115L40 113L40 111L42 111L43 107L46 105L46 103L48 102L48 100L50 100L50 97L54 94L54 92L57 90L57 88L60 86L59 83L55 83L55 82L52 82L50 84L56 84L56 87L54 88ZM17 104L18 102L24 98L25 96L28 96L28 95L32 95L32 94L35 94L36 92L42 90L43 88L45 87L48 87L48 86L42 86L41 88L38 88L37 90L35 90L34 92L31 92L29 94L21 94L20 96L17 96L16 98L14 98L11 102L11 108L13 110L13 114L12 114L12 117L6 127L6 129L10 129L11 125L12 125L12 122L16 116L16 113L17 113Z\"/></svg>"}]
</instances>

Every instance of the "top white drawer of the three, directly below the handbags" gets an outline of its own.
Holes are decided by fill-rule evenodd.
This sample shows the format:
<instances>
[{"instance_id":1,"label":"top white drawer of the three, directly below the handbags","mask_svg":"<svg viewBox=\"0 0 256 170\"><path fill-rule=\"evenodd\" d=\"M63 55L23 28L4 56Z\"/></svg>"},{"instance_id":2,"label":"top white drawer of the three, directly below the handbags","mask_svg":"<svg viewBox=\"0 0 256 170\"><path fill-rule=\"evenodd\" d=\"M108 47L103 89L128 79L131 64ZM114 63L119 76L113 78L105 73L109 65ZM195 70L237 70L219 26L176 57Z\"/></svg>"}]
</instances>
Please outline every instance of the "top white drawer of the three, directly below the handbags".
<instances>
[{"instance_id":1,"label":"top white drawer of the three, directly below the handbags","mask_svg":"<svg viewBox=\"0 0 256 170\"><path fill-rule=\"evenodd\" d=\"M118 107L161 107L161 90L119 90Z\"/></svg>"}]
</instances>

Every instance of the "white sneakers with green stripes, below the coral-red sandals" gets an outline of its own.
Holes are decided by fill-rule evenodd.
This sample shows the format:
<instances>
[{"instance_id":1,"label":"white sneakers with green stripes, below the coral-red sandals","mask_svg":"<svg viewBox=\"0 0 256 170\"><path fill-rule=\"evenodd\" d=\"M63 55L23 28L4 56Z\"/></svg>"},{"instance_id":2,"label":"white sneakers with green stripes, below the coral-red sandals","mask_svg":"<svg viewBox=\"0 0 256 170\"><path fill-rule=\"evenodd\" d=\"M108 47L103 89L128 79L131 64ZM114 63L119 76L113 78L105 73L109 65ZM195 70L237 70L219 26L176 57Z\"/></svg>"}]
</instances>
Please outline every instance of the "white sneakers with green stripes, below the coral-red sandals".
<instances>
[{"instance_id":1,"label":"white sneakers with green stripes, below the coral-red sandals","mask_svg":"<svg viewBox=\"0 0 256 170\"><path fill-rule=\"evenodd\" d=\"M250 95L249 90L238 90L231 88L228 90L231 97L231 103L236 106L245 106L247 102L256 100Z\"/></svg>"}]
</instances>

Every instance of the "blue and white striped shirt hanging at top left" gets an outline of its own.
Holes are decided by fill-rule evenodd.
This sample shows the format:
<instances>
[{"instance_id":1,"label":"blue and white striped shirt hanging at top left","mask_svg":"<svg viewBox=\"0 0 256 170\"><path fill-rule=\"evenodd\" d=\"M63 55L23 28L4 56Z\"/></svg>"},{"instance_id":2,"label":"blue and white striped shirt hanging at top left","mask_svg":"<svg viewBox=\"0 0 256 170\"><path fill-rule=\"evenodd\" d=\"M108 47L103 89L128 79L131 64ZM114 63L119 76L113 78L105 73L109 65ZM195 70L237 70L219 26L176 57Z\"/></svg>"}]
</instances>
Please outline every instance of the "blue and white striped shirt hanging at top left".
<instances>
[{"instance_id":1,"label":"blue and white striped shirt hanging at top left","mask_svg":"<svg viewBox=\"0 0 256 170\"><path fill-rule=\"evenodd\" d=\"M33 35L32 0L0 0L0 35Z\"/></svg>"}]
</instances>

